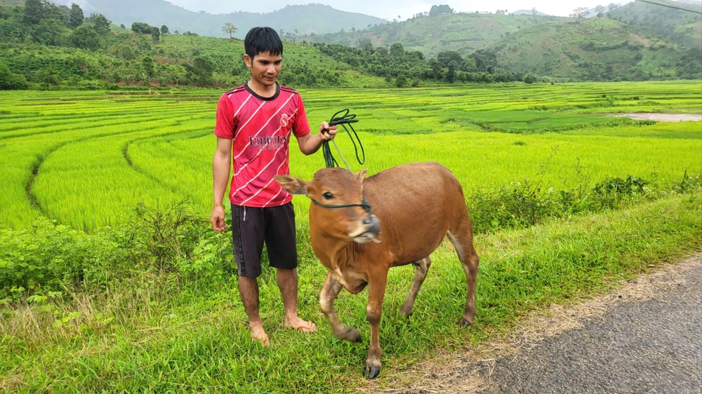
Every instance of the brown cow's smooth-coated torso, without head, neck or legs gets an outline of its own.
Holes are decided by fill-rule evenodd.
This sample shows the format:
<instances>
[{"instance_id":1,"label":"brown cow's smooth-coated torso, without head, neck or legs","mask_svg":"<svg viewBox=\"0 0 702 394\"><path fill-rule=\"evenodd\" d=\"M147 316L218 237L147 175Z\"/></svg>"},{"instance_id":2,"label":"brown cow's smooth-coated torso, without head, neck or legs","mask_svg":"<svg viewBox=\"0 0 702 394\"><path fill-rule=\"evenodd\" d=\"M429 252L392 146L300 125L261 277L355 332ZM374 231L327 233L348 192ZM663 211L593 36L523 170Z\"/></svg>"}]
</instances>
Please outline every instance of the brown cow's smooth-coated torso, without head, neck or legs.
<instances>
[{"instance_id":1,"label":"brown cow's smooth-coated torso, without head, neck or legs","mask_svg":"<svg viewBox=\"0 0 702 394\"><path fill-rule=\"evenodd\" d=\"M409 163L364 181L366 199L380 219L380 247L394 265L410 264L433 252L456 217L467 216L458 179L435 162Z\"/></svg>"}]
</instances>

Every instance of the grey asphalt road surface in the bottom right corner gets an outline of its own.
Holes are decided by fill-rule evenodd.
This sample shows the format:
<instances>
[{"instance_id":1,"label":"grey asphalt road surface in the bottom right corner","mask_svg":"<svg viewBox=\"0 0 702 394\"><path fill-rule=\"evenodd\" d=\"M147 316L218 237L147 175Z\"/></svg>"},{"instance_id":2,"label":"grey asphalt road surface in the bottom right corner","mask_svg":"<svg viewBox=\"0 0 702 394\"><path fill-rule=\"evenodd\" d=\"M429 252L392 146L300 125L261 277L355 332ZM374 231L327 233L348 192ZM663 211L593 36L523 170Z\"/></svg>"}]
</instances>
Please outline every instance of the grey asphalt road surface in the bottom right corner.
<instances>
[{"instance_id":1,"label":"grey asphalt road surface in the bottom right corner","mask_svg":"<svg viewBox=\"0 0 702 394\"><path fill-rule=\"evenodd\" d=\"M654 292L480 369L484 393L702 393L702 266Z\"/></svg>"}]
</instances>

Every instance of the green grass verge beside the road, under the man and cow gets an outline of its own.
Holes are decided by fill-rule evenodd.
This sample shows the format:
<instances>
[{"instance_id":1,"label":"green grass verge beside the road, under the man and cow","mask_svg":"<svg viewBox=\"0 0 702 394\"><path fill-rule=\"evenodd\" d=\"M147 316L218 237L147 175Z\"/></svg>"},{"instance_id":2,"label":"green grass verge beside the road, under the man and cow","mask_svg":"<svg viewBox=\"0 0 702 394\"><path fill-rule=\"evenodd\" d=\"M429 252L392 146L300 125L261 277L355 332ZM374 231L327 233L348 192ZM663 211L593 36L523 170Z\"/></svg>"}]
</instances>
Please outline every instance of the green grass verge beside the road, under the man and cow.
<instances>
[{"instance_id":1,"label":"green grass verge beside the road, under the man and cow","mask_svg":"<svg viewBox=\"0 0 702 394\"><path fill-rule=\"evenodd\" d=\"M408 320L397 316L411 268L390 271L380 340L378 384L439 349L457 351L506 334L536 308L608 290L650 266L702 247L700 196L679 196L620 212L549 222L522 231L478 236L481 256L476 325L456 321L465 276L445 245ZM365 295L340 295L340 318L359 327L361 344L338 341L317 306L324 268L300 267L300 314L319 332L282 327L282 300L264 270L262 317L272 346L252 344L234 280L208 284L154 277L103 294L65 292L55 300L6 306L0 320L0 388L14 392L212 391L350 392L362 378L369 329ZM174 297L173 294L178 294ZM56 316L67 318L55 327ZM74 316L70 318L70 316ZM41 367L39 367L41 366Z\"/></svg>"}]
</instances>

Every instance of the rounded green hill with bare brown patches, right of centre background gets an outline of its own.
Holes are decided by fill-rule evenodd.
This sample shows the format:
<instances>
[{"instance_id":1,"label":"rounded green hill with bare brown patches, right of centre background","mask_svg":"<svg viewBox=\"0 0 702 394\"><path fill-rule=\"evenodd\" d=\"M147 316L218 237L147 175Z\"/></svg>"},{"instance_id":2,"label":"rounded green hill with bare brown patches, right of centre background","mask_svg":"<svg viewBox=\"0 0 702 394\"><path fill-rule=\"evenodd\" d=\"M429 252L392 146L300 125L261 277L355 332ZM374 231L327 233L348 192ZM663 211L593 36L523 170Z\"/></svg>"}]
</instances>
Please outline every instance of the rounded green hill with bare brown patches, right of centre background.
<instances>
[{"instance_id":1,"label":"rounded green hill with bare brown patches, right of centre background","mask_svg":"<svg viewBox=\"0 0 702 394\"><path fill-rule=\"evenodd\" d=\"M698 57L684 46L646 36L609 18L543 22L503 39L490 51L499 67L581 80L700 78Z\"/></svg>"}]
</instances>

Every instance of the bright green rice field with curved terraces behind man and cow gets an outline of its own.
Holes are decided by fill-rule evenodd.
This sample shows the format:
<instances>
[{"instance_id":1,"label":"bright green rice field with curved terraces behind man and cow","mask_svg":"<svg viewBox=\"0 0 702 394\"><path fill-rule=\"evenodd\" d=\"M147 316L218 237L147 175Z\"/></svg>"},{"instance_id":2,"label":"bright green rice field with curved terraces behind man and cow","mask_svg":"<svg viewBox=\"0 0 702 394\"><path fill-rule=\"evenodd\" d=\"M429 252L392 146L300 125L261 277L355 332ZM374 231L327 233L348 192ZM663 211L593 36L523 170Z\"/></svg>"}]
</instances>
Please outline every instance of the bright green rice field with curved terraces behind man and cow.
<instances>
[{"instance_id":1,"label":"bright green rice field with curved terraces behind man and cow","mask_svg":"<svg viewBox=\"0 0 702 394\"><path fill-rule=\"evenodd\" d=\"M555 187L576 182L577 165L594 180L655 172L665 182L686 169L702 172L700 122L603 116L699 114L701 89L681 81L300 93L313 130L338 109L357 114L369 175L439 161L470 194L537 175ZM184 198L208 215L220 93L0 93L0 226L21 228L46 216L90 231L119 225L137 203ZM338 144L354 156L346 135ZM312 177L324 165L321 152L306 157L294 145L291 172ZM295 198L298 213L307 203Z\"/></svg>"}]
</instances>

